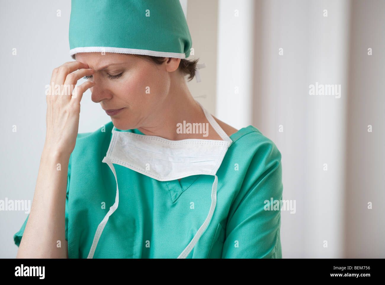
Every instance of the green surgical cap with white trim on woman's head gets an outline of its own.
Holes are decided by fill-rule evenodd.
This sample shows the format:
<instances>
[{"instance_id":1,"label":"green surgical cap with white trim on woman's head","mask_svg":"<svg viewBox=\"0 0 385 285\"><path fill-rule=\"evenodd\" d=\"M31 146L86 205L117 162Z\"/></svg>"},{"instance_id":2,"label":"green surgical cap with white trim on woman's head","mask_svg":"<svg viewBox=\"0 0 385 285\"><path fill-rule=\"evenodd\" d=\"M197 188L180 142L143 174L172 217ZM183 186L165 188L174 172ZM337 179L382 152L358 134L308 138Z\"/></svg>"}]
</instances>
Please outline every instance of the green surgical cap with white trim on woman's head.
<instances>
[{"instance_id":1,"label":"green surgical cap with white trim on woman's head","mask_svg":"<svg viewBox=\"0 0 385 285\"><path fill-rule=\"evenodd\" d=\"M70 56L114 52L187 58L192 44L179 0L72 0Z\"/></svg>"}]
</instances>

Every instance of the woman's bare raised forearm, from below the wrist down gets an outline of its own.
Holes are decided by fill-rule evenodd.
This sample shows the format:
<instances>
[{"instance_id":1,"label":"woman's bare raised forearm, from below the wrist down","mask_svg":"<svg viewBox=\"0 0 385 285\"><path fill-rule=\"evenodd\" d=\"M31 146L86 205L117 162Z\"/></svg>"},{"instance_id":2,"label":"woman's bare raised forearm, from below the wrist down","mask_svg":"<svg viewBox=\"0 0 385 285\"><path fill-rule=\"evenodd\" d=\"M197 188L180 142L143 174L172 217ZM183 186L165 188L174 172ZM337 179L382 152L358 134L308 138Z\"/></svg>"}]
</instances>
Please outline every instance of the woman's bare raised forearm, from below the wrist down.
<instances>
[{"instance_id":1,"label":"woman's bare raised forearm, from below the wrist down","mask_svg":"<svg viewBox=\"0 0 385 285\"><path fill-rule=\"evenodd\" d=\"M16 258L68 258L65 199L69 157L44 148L31 211ZM57 170L58 163L61 170Z\"/></svg>"}]
</instances>

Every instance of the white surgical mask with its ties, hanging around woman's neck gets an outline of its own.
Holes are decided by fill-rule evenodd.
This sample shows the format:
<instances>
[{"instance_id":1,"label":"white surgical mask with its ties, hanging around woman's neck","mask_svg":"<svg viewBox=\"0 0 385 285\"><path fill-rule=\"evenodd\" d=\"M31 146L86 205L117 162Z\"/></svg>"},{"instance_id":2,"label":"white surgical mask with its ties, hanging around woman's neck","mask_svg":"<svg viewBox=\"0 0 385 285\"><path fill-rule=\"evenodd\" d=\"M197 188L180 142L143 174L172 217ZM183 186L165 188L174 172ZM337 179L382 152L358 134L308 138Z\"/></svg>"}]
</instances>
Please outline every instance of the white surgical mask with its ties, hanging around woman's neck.
<instances>
[{"instance_id":1,"label":"white surgical mask with its ties, hanging around woman's neck","mask_svg":"<svg viewBox=\"0 0 385 285\"><path fill-rule=\"evenodd\" d=\"M198 102L198 101L197 101ZM199 103L199 102L198 102ZM109 165L116 180L115 203L97 227L94 240L87 258L92 258L100 235L108 218L119 204L119 190L113 163L130 168L159 181L171 181L192 175L213 175L215 177L211 188L211 206L208 216L197 231L194 238L179 255L186 258L208 227L216 206L216 190L218 177L216 172L232 143L231 138L222 130L213 116L203 108L207 120L223 140L185 139L167 140L165 138L141 135L131 132L119 132L112 128L112 138L102 162Z\"/></svg>"}]
</instances>

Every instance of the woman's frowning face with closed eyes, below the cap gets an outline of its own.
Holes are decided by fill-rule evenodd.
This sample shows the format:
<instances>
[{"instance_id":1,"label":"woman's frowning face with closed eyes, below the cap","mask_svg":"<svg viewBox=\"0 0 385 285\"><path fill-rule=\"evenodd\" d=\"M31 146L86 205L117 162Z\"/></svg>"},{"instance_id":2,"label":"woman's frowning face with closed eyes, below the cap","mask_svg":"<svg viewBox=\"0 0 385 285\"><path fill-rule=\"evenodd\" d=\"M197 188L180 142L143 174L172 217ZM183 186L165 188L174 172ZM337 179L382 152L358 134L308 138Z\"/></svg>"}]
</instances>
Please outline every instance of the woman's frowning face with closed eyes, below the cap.
<instances>
[{"instance_id":1,"label":"woman's frowning face with closed eyes, below the cap","mask_svg":"<svg viewBox=\"0 0 385 285\"><path fill-rule=\"evenodd\" d=\"M167 58L162 65L156 65L130 54L99 52L77 53L75 59L94 70L87 79L95 81L90 88L91 100L104 110L122 109L109 114L119 130L146 126L155 119L167 100L170 72L180 62L179 58Z\"/></svg>"}]
</instances>

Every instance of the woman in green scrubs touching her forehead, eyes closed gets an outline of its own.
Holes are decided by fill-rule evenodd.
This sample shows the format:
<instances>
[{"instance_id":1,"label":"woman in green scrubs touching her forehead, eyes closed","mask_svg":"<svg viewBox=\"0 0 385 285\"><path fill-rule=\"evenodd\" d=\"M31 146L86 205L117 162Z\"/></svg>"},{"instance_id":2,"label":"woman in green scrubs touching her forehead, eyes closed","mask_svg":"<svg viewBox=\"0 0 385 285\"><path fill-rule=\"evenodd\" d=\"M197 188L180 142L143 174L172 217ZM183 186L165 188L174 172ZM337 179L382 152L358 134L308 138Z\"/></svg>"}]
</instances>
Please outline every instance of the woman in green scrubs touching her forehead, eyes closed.
<instances>
[{"instance_id":1,"label":"woman in green scrubs touching her forehead, eyes closed","mask_svg":"<svg viewBox=\"0 0 385 285\"><path fill-rule=\"evenodd\" d=\"M281 258L280 211L265 207L282 199L281 154L192 97L179 1L72 0L69 34L75 61L55 68L51 84L88 81L69 95L49 89L17 257ZM78 134L88 88L111 122Z\"/></svg>"}]
</instances>

